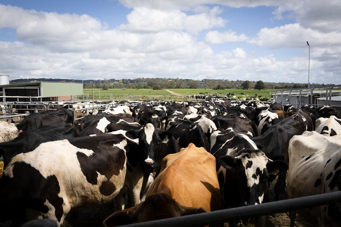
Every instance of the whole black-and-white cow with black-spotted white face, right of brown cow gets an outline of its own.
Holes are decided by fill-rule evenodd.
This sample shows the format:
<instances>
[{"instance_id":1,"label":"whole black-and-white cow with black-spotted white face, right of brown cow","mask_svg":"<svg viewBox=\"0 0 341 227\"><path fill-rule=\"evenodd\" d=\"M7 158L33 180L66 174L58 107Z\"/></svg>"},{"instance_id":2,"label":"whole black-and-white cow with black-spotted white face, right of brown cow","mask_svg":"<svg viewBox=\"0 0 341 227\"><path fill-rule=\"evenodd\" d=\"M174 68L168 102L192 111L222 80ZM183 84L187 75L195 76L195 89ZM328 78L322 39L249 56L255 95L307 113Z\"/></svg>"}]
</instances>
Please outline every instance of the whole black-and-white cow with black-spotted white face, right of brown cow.
<instances>
[{"instance_id":1,"label":"whole black-and-white cow with black-spotted white face, right of brown cow","mask_svg":"<svg viewBox=\"0 0 341 227\"><path fill-rule=\"evenodd\" d=\"M269 174L287 170L284 161L272 161L258 150L245 130L215 131L211 135L211 153L217 159L216 170L225 208L268 201ZM274 169L279 171L273 172ZM256 222L264 226L264 221L265 216ZM243 222L246 225L248 220Z\"/></svg>"}]
</instances>

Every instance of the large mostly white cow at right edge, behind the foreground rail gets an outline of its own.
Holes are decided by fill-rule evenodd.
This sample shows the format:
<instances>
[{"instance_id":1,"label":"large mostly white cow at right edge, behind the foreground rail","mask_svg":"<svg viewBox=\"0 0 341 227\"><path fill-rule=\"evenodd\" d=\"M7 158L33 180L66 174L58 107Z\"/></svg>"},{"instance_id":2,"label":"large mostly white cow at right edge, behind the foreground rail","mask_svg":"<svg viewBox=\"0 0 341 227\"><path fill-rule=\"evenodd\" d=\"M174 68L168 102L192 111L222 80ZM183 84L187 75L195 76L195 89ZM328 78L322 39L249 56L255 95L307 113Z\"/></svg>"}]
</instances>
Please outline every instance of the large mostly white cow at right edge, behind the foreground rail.
<instances>
[{"instance_id":1,"label":"large mostly white cow at right edge, behind the foreground rail","mask_svg":"<svg viewBox=\"0 0 341 227\"><path fill-rule=\"evenodd\" d=\"M287 193L289 198L341 190L341 137L304 132L289 144ZM308 222L319 226L341 226L340 202L296 210ZM295 211L290 212L294 226Z\"/></svg>"}]
</instances>

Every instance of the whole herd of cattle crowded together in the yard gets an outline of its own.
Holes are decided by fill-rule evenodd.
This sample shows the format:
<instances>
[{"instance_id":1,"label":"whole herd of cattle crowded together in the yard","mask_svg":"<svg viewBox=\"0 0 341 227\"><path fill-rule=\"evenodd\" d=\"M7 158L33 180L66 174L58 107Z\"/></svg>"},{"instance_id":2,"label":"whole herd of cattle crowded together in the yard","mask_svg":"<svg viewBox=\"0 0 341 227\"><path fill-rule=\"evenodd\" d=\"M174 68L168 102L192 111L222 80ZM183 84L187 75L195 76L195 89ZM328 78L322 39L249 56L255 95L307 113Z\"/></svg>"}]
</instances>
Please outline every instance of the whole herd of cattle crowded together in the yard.
<instances>
[{"instance_id":1,"label":"whole herd of cattle crowded together in the yard","mask_svg":"<svg viewBox=\"0 0 341 227\"><path fill-rule=\"evenodd\" d=\"M71 209L109 202L116 212L105 226L254 205L269 201L277 176L276 200L285 187L289 198L341 190L337 108L167 101L77 121L74 114L58 108L0 125L0 134L15 134L0 143L0 222L46 218L61 226ZM320 226L340 226L339 205L297 212Z\"/></svg>"}]
</instances>

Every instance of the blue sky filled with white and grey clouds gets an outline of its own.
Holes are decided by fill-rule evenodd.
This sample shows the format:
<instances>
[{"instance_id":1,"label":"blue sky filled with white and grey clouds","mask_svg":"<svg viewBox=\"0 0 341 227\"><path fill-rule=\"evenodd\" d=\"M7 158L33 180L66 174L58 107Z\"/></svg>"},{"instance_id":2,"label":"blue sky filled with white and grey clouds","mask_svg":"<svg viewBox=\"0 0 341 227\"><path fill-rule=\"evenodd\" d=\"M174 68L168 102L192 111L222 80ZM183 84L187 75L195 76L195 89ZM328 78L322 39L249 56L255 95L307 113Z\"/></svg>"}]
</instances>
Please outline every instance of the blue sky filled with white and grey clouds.
<instances>
[{"instance_id":1,"label":"blue sky filled with white and grey clouds","mask_svg":"<svg viewBox=\"0 0 341 227\"><path fill-rule=\"evenodd\" d=\"M340 21L341 0L0 0L0 75L339 85Z\"/></svg>"}]
</instances>

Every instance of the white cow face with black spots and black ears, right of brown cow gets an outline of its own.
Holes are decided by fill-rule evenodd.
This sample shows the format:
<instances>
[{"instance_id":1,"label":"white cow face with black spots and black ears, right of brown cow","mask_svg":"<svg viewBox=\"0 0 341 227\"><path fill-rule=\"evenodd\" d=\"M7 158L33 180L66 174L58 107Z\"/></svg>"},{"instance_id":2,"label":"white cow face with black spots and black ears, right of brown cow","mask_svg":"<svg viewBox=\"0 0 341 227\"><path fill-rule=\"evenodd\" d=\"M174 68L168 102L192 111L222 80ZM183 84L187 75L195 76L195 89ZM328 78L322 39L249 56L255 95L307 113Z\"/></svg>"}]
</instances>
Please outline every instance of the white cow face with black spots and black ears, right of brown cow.
<instances>
[{"instance_id":1,"label":"white cow face with black spots and black ears, right of brown cow","mask_svg":"<svg viewBox=\"0 0 341 227\"><path fill-rule=\"evenodd\" d=\"M240 203L251 205L263 202L268 196L268 178L270 174L280 174L288 169L284 161L272 161L261 150L245 149L237 157L224 155L218 162L227 169L226 175L232 173L237 177L240 192Z\"/></svg>"}]
</instances>

